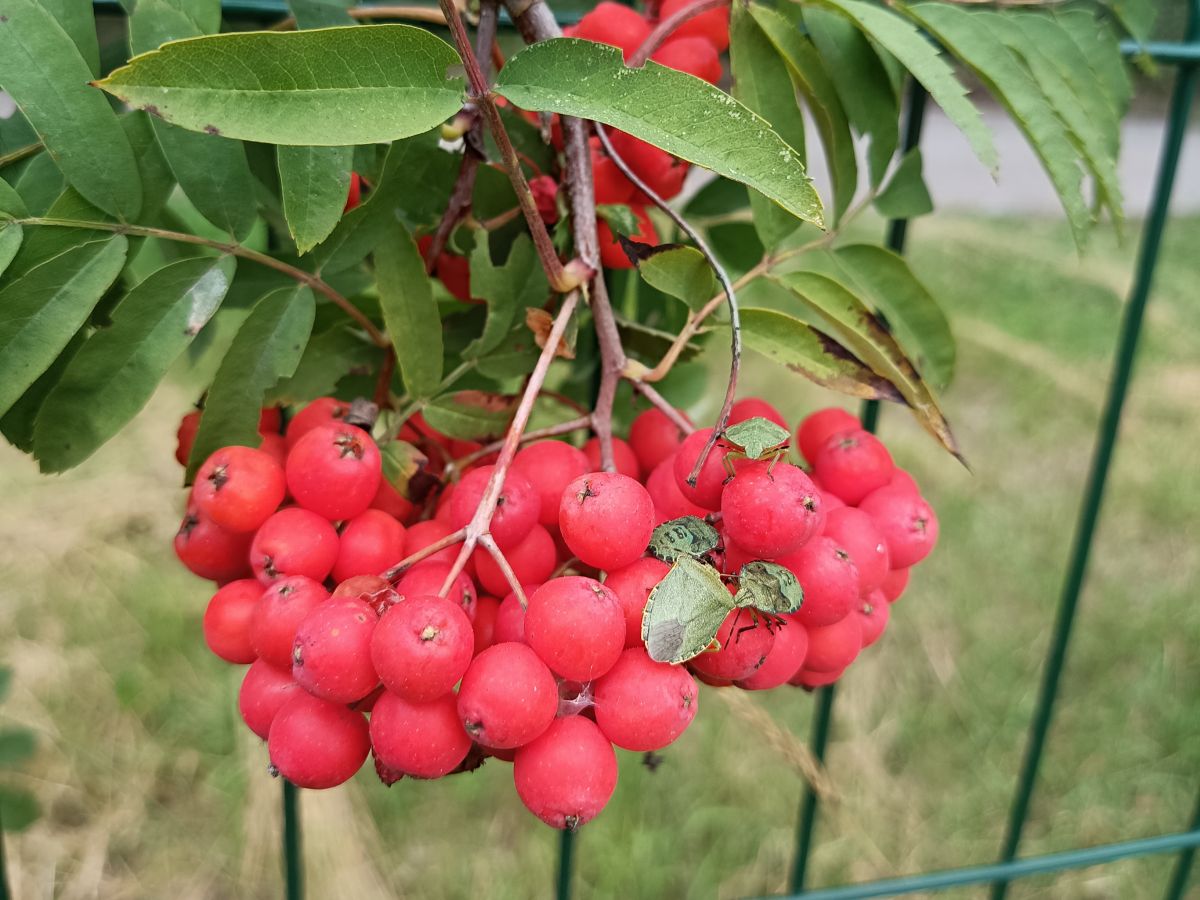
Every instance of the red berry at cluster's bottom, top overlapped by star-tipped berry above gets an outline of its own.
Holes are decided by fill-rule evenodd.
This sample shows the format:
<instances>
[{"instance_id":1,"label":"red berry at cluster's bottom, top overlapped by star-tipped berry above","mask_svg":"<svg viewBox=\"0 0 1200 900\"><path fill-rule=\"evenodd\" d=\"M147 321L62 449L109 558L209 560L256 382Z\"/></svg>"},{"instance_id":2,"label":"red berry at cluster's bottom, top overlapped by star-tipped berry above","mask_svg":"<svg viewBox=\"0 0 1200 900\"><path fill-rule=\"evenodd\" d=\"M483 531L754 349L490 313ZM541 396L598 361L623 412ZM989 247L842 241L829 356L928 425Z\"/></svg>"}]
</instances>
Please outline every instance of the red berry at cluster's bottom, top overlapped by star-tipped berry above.
<instances>
[{"instance_id":1,"label":"red berry at cluster's bottom, top overlapped by star-tipped berry above","mask_svg":"<svg viewBox=\"0 0 1200 900\"><path fill-rule=\"evenodd\" d=\"M371 710L371 745L390 769L413 778L442 778L470 750L454 694L424 703L384 691Z\"/></svg>"}]
</instances>

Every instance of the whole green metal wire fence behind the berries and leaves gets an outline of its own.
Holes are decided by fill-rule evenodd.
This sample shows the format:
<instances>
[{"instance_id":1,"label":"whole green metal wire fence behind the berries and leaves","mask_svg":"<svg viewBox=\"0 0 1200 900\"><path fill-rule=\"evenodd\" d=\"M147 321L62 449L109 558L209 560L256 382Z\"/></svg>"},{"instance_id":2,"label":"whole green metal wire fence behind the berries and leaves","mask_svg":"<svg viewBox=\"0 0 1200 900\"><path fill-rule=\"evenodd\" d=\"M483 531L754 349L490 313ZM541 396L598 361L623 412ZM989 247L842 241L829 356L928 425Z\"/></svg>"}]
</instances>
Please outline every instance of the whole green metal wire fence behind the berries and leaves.
<instances>
[{"instance_id":1,"label":"whole green metal wire fence behind the berries and leaves","mask_svg":"<svg viewBox=\"0 0 1200 900\"><path fill-rule=\"evenodd\" d=\"M589 6L590 4L587 5ZM118 11L120 5L118 0L98 0L96 7L97 10ZM288 12L283 0L234 0L233 2L226 2L224 10L230 17L263 20L281 18ZM576 17L564 16L563 18L565 22L570 22ZM810 888L808 887L809 860L817 840L820 799L816 792L808 788L800 802L796 834L796 856L791 869L790 883L792 893L790 896L797 898L797 900L800 898L804 900L863 900L864 898L898 896L917 892L936 892L967 886L991 886L992 900L1003 900L1008 886L1019 878L1100 865L1118 859L1166 853L1174 853L1175 862L1164 900L1180 900L1188 888L1195 851L1200 846L1200 790L1198 790L1196 794L1195 811L1190 821L1183 826L1186 830L1085 850L1073 850L1037 857L1022 858L1019 856L1021 835L1028 818L1033 792L1037 787L1038 769L1042 764L1046 736L1054 721L1060 682L1067 659L1067 650L1070 646L1079 598L1087 575L1088 558L1096 538L1096 524L1099 520L1104 500L1104 488L1108 481L1109 468L1120 437L1121 414L1129 391L1146 304L1150 300L1151 288L1153 287L1154 269L1158 264L1163 233L1166 228L1171 193L1175 188L1175 179L1178 172L1180 154L1195 96L1196 70L1200 66L1200 0L1190 0L1189 2L1188 24L1182 41L1154 42L1140 46L1127 43L1123 46L1123 50L1129 56L1145 55L1162 66L1174 67L1175 84L1165 119L1162 156L1158 163L1154 192L1141 235L1129 301L1124 307L1117 335L1108 394L1097 427L1091 467L1079 509L1079 520L1068 557L1050 647L1046 653L1037 707L1030 722L1025 757L1018 774L1008 826L997 860L989 865L922 872L844 887ZM913 85L908 90L905 109L905 151L918 146L920 143L925 106L924 91L919 86ZM907 234L907 221L898 220L889 222L888 246L896 252L904 252ZM875 428L878 415L880 409L876 403L864 406L863 420L868 428ZM815 695L816 709L812 718L810 746L814 755L822 762L826 758L829 736L834 725L835 698L836 688L834 685L822 688ZM282 851L287 898L288 900L300 900L304 896L304 860L300 840L299 796L289 784L283 785ZM560 900L566 900L571 896L572 862L576 856L575 835L570 832L563 832L554 878L556 895Z\"/></svg>"}]
</instances>

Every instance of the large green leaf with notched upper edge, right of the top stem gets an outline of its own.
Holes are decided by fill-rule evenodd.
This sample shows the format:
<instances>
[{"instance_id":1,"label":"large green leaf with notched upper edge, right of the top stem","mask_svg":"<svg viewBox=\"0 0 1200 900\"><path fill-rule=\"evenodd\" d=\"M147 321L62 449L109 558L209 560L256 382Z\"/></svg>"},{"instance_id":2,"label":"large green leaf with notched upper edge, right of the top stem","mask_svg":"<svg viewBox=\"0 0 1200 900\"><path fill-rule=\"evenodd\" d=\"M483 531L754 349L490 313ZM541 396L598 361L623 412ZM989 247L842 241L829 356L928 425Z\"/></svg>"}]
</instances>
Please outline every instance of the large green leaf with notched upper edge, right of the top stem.
<instances>
[{"instance_id":1,"label":"large green leaf with notched upper edge, right of the top stem","mask_svg":"<svg viewBox=\"0 0 1200 900\"><path fill-rule=\"evenodd\" d=\"M496 90L524 109L594 119L761 191L822 224L800 155L770 125L716 88L620 50L575 38L542 41L500 70Z\"/></svg>"}]
</instances>

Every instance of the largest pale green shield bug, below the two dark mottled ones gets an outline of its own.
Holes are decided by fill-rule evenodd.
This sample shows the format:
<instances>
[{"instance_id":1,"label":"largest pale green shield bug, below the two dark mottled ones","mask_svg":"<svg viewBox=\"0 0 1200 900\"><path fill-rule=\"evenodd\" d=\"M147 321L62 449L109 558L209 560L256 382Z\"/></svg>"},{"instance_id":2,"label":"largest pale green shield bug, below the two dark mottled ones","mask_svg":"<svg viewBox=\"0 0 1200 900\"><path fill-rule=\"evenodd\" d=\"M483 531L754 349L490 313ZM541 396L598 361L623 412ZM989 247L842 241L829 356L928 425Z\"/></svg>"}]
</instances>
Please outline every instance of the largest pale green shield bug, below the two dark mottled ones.
<instances>
[{"instance_id":1,"label":"largest pale green shield bug, below the two dark mottled ones","mask_svg":"<svg viewBox=\"0 0 1200 900\"><path fill-rule=\"evenodd\" d=\"M710 565L679 557L646 601L642 642L656 662L684 662L713 643L733 598Z\"/></svg>"}]
</instances>

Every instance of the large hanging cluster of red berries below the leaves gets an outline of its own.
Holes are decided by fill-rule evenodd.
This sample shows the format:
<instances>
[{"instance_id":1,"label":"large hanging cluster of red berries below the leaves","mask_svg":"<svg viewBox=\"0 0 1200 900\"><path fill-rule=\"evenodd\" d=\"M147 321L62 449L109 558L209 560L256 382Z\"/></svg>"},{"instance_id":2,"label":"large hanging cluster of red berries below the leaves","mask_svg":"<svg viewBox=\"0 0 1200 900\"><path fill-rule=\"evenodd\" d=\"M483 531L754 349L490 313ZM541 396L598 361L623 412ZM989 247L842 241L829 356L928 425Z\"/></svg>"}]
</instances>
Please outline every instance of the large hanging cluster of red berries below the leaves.
<instances>
[{"instance_id":1,"label":"large hanging cluster of red berries below the leaves","mask_svg":"<svg viewBox=\"0 0 1200 900\"><path fill-rule=\"evenodd\" d=\"M262 448L221 449L198 469L175 540L184 564L220 584L204 635L222 659L250 664L246 725L268 742L272 769L302 787L342 784L368 754L385 784L494 757L512 763L530 811L575 828L616 787L614 746L649 752L683 733L695 678L748 690L835 680L878 638L937 536L912 479L840 409L799 426L811 476L718 444L695 486L710 432L685 437L652 409L628 442L614 439L614 473L598 472L594 438L517 452L491 522L511 574L480 548L451 578L460 547L449 545L391 583L390 568L472 520L494 466L462 467L422 518L349 413L317 400L280 437L278 410L264 410ZM782 424L758 400L739 402L733 421L758 416ZM182 458L194 418L185 426ZM402 437L437 442L446 460L478 449L419 419ZM720 649L668 665L642 640L647 600L671 570L647 550L658 524L688 515L719 522L722 572L773 559L804 602L740 626L731 613Z\"/></svg>"}]
</instances>

